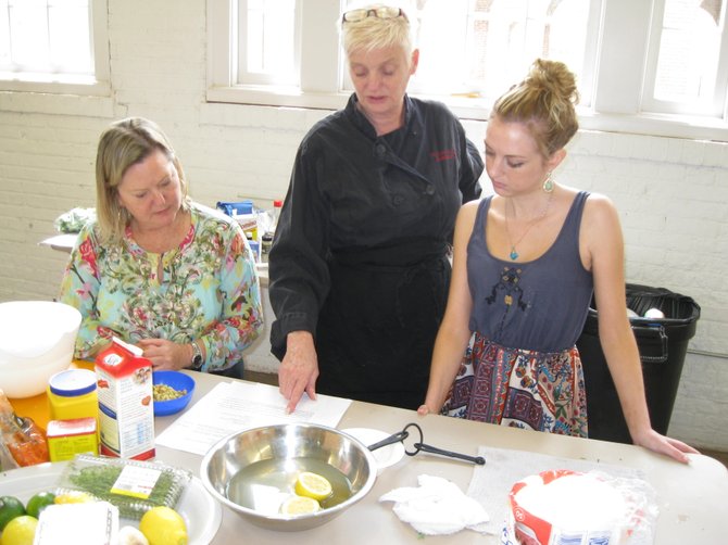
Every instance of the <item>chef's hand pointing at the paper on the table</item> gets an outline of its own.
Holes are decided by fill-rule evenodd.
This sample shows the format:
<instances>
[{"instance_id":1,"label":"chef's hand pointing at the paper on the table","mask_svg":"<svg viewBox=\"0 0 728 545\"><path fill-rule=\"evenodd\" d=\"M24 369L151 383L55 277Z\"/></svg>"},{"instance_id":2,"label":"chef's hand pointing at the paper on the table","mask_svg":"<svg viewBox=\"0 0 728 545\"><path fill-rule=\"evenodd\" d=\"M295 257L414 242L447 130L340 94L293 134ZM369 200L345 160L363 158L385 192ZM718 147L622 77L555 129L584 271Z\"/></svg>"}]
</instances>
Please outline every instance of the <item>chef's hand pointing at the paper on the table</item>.
<instances>
[{"instance_id":1,"label":"chef's hand pointing at the paper on the table","mask_svg":"<svg viewBox=\"0 0 728 545\"><path fill-rule=\"evenodd\" d=\"M287 413L296 410L303 392L316 398L318 357L309 331L291 331L286 339L286 355L278 368L278 390L288 401Z\"/></svg>"}]
</instances>

